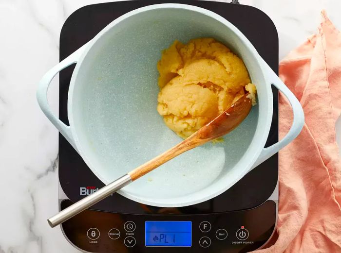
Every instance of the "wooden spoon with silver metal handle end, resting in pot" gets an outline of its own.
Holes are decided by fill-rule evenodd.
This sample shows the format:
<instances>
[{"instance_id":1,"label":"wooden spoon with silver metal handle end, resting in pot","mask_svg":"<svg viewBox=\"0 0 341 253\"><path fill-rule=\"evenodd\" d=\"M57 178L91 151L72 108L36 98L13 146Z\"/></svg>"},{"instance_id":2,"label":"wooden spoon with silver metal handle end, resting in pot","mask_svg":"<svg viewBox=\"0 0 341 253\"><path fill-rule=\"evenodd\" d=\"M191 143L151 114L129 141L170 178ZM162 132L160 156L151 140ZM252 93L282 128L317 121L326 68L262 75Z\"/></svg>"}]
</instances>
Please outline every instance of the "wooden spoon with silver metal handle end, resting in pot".
<instances>
[{"instance_id":1,"label":"wooden spoon with silver metal handle end, resting in pot","mask_svg":"<svg viewBox=\"0 0 341 253\"><path fill-rule=\"evenodd\" d=\"M203 145L210 140L228 134L246 118L251 110L251 100L247 98L247 95L248 93L234 102L217 118L214 118L207 125L203 126L197 132L190 135L187 139L183 140L168 151L156 156L152 160L142 164L136 169L133 169L109 185L100 188L93 194L74 203L73 205L59 212L57 215L51 217L48 219L50 226L55 227L60 223L74 217L76 214L108 197L115 191L142 177L153 169L156 169L179 154Z\"/></svg>"}]
</instances>

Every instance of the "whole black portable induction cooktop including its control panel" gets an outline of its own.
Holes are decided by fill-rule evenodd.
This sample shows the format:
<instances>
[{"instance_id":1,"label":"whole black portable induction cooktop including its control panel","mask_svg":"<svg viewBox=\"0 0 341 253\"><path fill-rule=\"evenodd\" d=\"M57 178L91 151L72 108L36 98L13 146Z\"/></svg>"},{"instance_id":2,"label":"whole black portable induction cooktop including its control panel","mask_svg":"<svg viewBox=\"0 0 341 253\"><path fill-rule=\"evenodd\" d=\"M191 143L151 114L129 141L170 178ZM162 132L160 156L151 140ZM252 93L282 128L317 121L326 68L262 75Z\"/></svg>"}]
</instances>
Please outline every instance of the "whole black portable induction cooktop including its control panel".
<instances>
[{"instance_id":1,"label":"whole black portable induction cooktop including its control panel","mask_svg":"<svg viewBox=\"0 0 341 253\"><path fill-rule=\"evenodd\" d=\"M242 4L199 0L130 0L82 7L62 27L60 61L115 18L143 6L166 2L196 5L225 17L278 73L278 34L265 13ZM74 67L59 74L59 118L66 124L68 88ZM273 121L265 147L278 141L278 91L274 87L273 101ZM58 176L60 210L104 186L60 134ZM277 211L278 154L275 154L206 202L165 208L114 193L64 222L61 229L66 239L83 252L243 253L262 248L269 241L277 224Z\"/></svg>"}]
</instances>

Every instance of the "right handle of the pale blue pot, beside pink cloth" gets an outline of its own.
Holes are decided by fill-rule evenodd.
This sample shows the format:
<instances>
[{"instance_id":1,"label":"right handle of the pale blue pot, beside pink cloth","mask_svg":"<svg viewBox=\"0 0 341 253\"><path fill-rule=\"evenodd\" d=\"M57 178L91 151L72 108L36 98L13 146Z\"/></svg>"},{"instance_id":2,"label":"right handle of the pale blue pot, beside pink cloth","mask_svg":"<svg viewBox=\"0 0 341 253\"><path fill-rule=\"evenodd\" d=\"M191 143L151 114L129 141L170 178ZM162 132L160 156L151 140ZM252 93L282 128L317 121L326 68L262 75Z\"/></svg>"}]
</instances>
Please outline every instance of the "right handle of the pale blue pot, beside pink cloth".
<instances>
[{"instance_id":1,"label":"right handle of the pale blue pot, beside pink cloth","mask_svg":"<svg viewBox=\"0 0 341 253\"><path fill-rule=\"evenodd\" d=\"M267 65L265 66L268 67ZM301 130L304 125L304 113L300 101L298 101L295 95L281 81L281 79L276 75L276 73L273 72L273 70L270 67L268 68L270 71L271 84L277 87L289 101L293 111L294 120L292 122L289 132L284 136L284 138L279 142L273 144L272 146L264 148L251 169L254 169L258 165L263 163L265 160L270 158L272 155L279 152L286 145L288 145L293 139L297 137L297 135L301 133Z\"/></svg>"}]
</instances>

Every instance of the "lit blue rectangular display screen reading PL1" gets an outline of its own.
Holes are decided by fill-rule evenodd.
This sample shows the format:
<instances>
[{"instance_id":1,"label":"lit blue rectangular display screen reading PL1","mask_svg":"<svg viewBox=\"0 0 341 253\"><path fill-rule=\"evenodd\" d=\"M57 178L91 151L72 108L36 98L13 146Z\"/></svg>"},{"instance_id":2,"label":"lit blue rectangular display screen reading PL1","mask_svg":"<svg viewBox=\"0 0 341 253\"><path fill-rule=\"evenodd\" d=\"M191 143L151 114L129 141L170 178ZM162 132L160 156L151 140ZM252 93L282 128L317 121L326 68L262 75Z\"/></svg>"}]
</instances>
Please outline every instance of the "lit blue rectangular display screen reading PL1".
<instances>
[{"instance_id":1,"label":"lit blue rectangular display screen reading PL1","mask_svg":"<svg viewBox=\"0 0 341 253\"><path fill-rule=\"evenodd\" d=\"M146 246L192 246L191 221L146 221Z\"/></svg>"}]
</instances>

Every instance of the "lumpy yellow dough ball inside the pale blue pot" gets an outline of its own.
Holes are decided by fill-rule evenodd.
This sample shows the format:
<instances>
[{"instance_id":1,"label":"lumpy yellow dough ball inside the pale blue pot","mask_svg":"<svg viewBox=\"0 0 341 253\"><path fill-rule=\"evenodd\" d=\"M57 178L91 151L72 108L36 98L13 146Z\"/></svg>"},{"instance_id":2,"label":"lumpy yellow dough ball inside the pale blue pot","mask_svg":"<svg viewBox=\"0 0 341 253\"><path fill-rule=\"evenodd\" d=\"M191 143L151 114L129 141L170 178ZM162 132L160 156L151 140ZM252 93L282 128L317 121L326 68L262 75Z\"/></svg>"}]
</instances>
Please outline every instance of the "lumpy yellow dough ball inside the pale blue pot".
<instances>
[{"instance_id":1,"label":"lumpy yellow dough ball inside the pale blue pot","mask_svg":"<svg viewBox=\"0 0 341 253\"><path fill-rule=\"evenodd\" d=\"M247 90L252 103L256 87L243 61L213 38L179 41L162 52L157 111L166 125L186 138L225 111Z\"/></svg>"}]
</instances>

